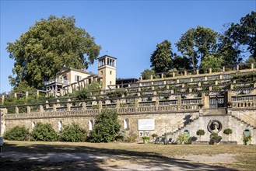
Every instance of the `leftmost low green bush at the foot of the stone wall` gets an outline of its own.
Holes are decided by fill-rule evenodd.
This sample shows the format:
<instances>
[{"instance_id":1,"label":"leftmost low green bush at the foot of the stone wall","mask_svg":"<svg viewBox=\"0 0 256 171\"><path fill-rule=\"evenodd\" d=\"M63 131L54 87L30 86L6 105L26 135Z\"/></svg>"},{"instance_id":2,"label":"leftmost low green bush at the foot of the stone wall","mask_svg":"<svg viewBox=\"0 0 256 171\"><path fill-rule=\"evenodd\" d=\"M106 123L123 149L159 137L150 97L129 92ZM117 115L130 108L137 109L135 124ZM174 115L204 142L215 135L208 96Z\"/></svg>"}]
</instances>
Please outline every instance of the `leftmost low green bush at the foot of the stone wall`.
<instances>
[{"instance_id":1,"label":"leftmost low green bush at the foot of the stone wall","mask_svg":"<svg viewBox=\"0 0 256 171\"><path fill-rule=\"evenodd\" d=\"M29 129L26 127L12 127L9 131L6 131L4 138L7 140L24 141L26 136L29 134Z\"/></svg>"}]
</instances>

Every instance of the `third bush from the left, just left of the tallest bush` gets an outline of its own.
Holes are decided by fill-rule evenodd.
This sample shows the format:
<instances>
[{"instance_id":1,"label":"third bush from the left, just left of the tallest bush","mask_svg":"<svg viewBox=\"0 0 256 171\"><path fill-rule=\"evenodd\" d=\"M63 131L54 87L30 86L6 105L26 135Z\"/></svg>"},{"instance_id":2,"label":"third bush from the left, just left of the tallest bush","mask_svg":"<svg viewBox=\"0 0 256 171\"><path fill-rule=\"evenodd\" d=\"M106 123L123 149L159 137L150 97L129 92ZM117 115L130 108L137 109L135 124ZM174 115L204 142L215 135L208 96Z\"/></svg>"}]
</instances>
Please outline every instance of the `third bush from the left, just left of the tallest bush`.
<instances>
[{"instance_id":1,"label":"third bush from the left, just left of the tallest bush","mask_svg":"<svg viewBox=\"0 0 256 171\"><path fill-rule=\"evenodd\" d=\"M61 141L72 141L72 142L81 142L86 139L86 130L75 124L74 122L71 125L63 125L60 137Z\"/></svg>"}]
</instances>

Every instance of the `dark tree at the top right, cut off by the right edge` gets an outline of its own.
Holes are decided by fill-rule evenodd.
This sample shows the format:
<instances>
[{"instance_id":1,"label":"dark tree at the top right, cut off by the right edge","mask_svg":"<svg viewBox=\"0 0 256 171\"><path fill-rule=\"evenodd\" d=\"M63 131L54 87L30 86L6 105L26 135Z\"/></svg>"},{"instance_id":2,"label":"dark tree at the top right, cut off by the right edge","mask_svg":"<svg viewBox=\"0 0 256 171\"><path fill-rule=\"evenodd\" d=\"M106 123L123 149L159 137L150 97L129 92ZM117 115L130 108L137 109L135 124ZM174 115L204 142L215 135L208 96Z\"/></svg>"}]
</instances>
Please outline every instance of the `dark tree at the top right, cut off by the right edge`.
<instances>
[{"instance_id":1,"label":"dark tree at the top right, cut off by the right edge","mask_svg":"<svg viewBox=\"0 0 256 171\"><path fill-rule=\"evenodd\" d=\"M256 12L242 17L240 23L231 23L224 35L233 44L243 45L256 60Z\"/></svg>"}]
</instances>

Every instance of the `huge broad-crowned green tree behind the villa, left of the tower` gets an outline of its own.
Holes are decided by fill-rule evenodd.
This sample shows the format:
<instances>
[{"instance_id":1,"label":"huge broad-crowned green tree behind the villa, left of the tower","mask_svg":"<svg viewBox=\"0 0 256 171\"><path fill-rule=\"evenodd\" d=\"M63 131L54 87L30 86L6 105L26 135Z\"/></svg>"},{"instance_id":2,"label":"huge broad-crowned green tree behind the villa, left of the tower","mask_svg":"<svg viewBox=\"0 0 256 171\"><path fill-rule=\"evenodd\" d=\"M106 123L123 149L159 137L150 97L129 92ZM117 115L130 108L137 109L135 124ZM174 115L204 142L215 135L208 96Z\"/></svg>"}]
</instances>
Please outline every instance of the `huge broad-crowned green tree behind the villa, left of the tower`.
<instances>
[{"instance_id":1,"label":"huge broad-crowned green tree behind the villa, left of the tower","mask_svg":"<svg viewBox=\"0 0 256 171\"><path fill-rule=\"evenodd\" d=\"M54 79L65 65L69 68L88 68L100 53L100 46L82 28L75 26L74 17L50 16L41 19L23 33L19 40L8 43L9 57L15 61L15 77L10 84L42 88L44 82Z\"/></svg>"}]
</instances>

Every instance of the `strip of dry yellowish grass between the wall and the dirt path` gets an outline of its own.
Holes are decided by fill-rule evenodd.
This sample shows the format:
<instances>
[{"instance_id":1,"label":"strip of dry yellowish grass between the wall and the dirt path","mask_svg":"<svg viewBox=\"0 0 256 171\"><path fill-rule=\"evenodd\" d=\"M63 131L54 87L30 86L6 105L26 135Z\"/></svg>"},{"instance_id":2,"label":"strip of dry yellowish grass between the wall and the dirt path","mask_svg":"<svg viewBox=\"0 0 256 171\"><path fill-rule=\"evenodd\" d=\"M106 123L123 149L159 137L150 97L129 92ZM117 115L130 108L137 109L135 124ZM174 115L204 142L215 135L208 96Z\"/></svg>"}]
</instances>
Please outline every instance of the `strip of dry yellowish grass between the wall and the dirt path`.
<instances>
[{"instance_id":1,"label":"strip of dry yellowish grass between the wall and the dirt path","mask_svg":"<svg viewBox=\"0 0 256 171\"><path fill-rule=\"evenodd\" d=\"M22 152L29 154L46 154L49 152L61 152L68 154L77 152L94 153L96 155L118 155L121 156L121 158L124 157L127 159L150 159L160 163L167 160L174 162L175 157L184 155L218 156L219 154L233 154L237 160L233 163L212 163L211 161L207 162L211 162L210 164L223 166L228 169L255 170L256 168L255 145L142 145L137 143L5 141L3 152ZM1 155L0 159L2 160ZM207 162L205 162L205 164L207 164ZM101 161L101 164L102 163L103 161ZM19 162L16 161L16 165L17 164L19 165ZM28 165L28 163L24 163L24 161L20 164L21 166ZM66 163L61 163L61 165L65 164ZM45 163L40 164L40 166L41 165L44 166ZM51 166L52 165L53 164L51 163ZM188 165L190 164L188 163Z\"/></svg>"}]
</instances>

